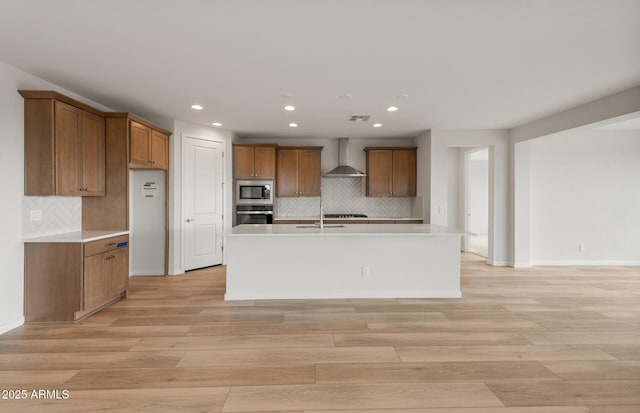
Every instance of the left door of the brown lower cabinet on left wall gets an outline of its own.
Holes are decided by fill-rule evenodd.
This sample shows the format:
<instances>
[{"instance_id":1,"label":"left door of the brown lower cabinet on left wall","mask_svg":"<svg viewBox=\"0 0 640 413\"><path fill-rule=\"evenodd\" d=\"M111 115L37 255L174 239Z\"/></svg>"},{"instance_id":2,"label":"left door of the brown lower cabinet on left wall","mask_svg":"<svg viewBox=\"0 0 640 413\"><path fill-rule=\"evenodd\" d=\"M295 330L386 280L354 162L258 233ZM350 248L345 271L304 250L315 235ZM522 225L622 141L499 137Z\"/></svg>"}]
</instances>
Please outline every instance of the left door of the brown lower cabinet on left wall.
<instances>
[{"instance_id":1,"label":"left door of the brown lower cabinet on left wall","mask_svg":"<svg viewBox=\"0 0 640 413\"><path fill-rule=\"evenodd\" d=\"M83 311L91 311L109 299L110 251L84 259Z\"/></svg>"}]
</instances>

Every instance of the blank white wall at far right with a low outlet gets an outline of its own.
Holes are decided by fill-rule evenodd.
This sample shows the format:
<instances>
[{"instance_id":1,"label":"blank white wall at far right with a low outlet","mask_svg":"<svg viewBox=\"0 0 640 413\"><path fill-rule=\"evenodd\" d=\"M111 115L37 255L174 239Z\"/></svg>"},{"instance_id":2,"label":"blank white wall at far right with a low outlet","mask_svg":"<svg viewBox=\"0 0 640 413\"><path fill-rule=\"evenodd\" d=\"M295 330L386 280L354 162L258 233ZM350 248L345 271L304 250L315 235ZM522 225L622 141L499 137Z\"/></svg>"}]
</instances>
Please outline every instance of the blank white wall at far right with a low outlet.
<instances>
[{"instance_id":1,"label":"blank white wall at far right with a low outlet","mask_svg":"<svg viewBox=\"0 0 640 413\"><path fill-rule=\"evenodd\" d=\"M531 141L530 184L533 265L640 264L640 131Z\"/></svg>"}]
</instances>

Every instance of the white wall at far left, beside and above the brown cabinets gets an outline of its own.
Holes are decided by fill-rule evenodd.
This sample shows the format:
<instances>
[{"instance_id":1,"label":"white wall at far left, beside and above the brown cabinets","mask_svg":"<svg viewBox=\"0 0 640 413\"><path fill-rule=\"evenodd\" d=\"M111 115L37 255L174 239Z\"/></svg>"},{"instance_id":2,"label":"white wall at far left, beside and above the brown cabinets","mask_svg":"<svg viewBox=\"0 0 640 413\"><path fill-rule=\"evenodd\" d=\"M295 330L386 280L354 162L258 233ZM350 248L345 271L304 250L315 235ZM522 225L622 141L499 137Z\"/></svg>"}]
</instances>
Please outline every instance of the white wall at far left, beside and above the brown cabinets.
<instances>
[{"instance_id":1,"label":"white wall at far left, beside and above the brown cabinets","mask_svg":"<svg viewBox=\"0 0 640 413\"><path fill-rule=\"evenodd\" d=\"M0 62L0 334L24 322L24 101L20 89L55 90L108 110L68 90Z\"/></svg>"}]
</instances>

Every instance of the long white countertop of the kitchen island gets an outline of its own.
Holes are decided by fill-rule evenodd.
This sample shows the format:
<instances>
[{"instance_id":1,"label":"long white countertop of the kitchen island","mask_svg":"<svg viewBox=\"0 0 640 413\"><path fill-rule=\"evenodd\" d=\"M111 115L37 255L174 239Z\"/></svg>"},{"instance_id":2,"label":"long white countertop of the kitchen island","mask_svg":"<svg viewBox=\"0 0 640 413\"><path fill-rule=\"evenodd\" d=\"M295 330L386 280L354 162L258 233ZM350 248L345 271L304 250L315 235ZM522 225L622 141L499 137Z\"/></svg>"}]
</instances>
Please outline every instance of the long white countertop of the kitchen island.
<instances>
[{"instance_id":1,"label":"long white countertop of the kitchen island","mask_svg":"<svg viewBox=\"0 0 640 413\"><path fill-rule=\"evenodd\" d=\"M367 235L367 236L460 236L472 235L455 228L443 227L440 225L430 224L345 224L342 228L336 228L333 225L326 225L324 229L320 228L300 228L304 224L245 224L231 228L231 232L227 236L322 236L322 235Z\"/></svg>"}]
</instances>

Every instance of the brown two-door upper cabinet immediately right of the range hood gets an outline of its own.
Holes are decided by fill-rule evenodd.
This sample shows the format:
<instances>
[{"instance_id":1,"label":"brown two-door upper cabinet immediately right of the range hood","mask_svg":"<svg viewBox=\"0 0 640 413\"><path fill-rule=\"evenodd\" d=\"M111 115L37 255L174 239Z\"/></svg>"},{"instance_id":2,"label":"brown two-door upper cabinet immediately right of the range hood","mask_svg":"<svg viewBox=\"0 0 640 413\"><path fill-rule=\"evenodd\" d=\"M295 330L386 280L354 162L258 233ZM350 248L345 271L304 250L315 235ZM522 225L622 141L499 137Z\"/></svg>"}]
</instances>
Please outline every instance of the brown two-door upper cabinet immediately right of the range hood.
<instances>
[{"instance_id":1,"label":"brown two-door upper cabinet immediately right of the range hood","mask_svg":"<svg viewBox=\"0 0 640 413\"><path fill-rule=\"evenodd\" d=\"M364 148L367 196L416 196L416 148Z\"/></svg>"}]
</instances>

